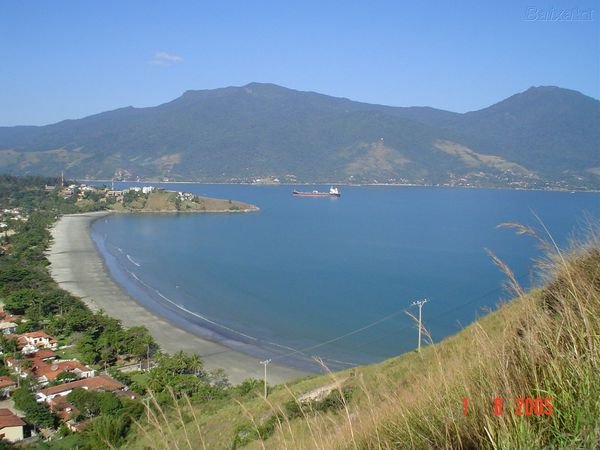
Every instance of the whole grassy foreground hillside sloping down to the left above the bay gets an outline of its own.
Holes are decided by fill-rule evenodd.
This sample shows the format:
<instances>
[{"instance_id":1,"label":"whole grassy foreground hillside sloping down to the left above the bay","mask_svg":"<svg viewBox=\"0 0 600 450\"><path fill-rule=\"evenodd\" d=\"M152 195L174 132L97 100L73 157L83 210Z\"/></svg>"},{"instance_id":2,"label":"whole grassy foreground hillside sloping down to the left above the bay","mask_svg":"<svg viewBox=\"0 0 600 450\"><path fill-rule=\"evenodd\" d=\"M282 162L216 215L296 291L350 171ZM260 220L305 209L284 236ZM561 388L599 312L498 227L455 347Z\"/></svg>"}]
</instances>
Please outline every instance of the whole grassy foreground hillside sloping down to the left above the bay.
<instances>
[{"instance_id":1,"label":"whole grassy foreground hillside sloping down to the left above the bay","mask_svg":"<svg viewBox=\"0 0 600 450\"><path fill-rule=\"evenodd\" d=\"M127 445L595 448L598 244L564 259L553 253L546 287L526 294L514 286L517 299L420 354L274 386L267 400L261 388L235 401L155 404Z\"/></svg>"}]
</instances>

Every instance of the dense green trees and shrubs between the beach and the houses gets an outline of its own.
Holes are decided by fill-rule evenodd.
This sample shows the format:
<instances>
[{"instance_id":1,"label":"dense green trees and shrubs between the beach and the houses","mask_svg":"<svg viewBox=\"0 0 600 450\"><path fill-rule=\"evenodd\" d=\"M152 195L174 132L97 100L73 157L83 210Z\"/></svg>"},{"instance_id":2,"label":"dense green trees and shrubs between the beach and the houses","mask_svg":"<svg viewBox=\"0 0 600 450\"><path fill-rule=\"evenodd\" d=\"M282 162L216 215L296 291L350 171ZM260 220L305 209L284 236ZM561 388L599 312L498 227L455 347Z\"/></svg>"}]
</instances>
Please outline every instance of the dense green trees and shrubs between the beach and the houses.
<instances>
[{"instance_id":1,"label":"dense green trees and shrubs between the beach and the houses","mask_svg":"<svg viewBox=\"0 0 600 450\"><path fill-rule=\"evenodd\" d=\"M117 319L103 312L91 311L79 298L64 291L48 273L45 257L50 242L49 227L62 213L80 211L81 202L76 195L65 197L59 190L46 190L57 180L40 177L15 178L0 176L0 208L18 207L27 220L11 223L15 231L5 237L0 255L0 301L7 312L22 315L23 321L17 332L45 330L69 344L58 354L75 357L97 370L109 373L130 387L138 395L152 392L156 408L172 404L185 395L208 401L223 398L231 392L249 392L248 385L230 388L223 371L206 371L196 355L178 352L175 355L161 353L145 327L124 328ZM85 204L88 210L90 204ZM23 359L24 367L30 361L17 352L16 341L0 336L3 357ZM149 367L152 358L152 366ZM122 372L119 366L140 363L146 371ZM0 364L0 374L9 373ZM71 381L73 376L60 374L56 385ZM14 393L15 406L25 413L25 421L36 429L56 429L60 421L45 405L35 401L35 380L31 377L19 380L20 388ZM258 389L249 382L252 389ZM57 435L43 448L105 449L118 446L144 413L144 402L118 397L108 392L74 390L67 398L78 410L77 422L89 420L82 433L71 433L60 425ZM153 409L150 397L146 406Z\"/></svg>"}]
</instances>

